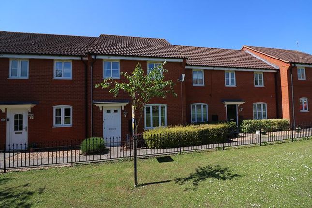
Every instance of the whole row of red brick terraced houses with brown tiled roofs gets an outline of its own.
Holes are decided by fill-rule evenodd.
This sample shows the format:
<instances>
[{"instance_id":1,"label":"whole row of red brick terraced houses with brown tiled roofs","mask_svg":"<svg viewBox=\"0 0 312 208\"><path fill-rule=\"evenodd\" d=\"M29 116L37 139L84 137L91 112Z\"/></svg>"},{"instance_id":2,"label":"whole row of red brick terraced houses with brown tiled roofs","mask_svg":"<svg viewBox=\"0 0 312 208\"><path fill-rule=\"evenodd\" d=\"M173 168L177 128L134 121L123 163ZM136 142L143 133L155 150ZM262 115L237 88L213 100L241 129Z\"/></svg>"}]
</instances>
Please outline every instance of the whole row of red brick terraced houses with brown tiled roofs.
<instances>
[{"instance_id":1,"label":"whole row of red brick terraced houses with brown tiled roofs","mask_svg":"<svg viewBox=\"0 0 312 208\"><path fill-rule=\"evenodd\" d=\"M0 143L100 136L115 137L119 145L131 134L131 100L122 93L114 98L109 89L94 85L107 77L123 82L120 72L131 72L140 63L148 73L164 60L165 78L175 82L178 97L155 98L147 104L140 131L217 120L308 121L312 56L272 51L284 50L2 31ZM178 81L181 74L184 82Z\"/></svg>"}]
</instances>

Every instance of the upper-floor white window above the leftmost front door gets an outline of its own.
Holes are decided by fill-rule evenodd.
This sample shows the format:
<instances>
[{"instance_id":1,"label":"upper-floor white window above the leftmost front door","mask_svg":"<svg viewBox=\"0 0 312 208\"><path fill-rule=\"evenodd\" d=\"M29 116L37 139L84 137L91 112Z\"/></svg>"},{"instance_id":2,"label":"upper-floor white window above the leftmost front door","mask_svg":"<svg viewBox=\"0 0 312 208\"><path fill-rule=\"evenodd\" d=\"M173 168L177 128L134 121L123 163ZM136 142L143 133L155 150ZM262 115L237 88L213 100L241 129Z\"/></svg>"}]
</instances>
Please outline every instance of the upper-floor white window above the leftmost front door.
<instances>
[{"instance_id":1,"label":"upper-floor white window above the leftmost front door","mask_svg":"<svg viewBox=\"0 0 312 208\"><path fill-rule=\"evenodd\" d=\"M10 59L9 78L28 79L28 60Z\"/></svg>"}]
</instances>

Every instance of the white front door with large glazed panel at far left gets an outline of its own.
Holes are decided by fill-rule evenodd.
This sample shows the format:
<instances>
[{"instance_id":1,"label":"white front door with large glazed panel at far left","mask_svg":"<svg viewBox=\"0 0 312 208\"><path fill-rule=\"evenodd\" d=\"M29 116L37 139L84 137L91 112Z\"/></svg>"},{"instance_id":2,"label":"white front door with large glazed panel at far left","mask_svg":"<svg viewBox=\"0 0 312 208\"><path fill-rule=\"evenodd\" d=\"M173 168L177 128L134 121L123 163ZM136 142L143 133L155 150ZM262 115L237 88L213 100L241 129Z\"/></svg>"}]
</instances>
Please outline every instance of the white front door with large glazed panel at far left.
<instances>
[{"instance_id":1,"label":"white front door with large glazed panel at far left","mask_svg":"<svg viewBox=\"0 0 312 208\"><path fill-rule=\"evenodd\" d=\"M27 148L27 109L7 109L7 148ZM9 146L10 144L10 146ZM17 146L16 146L17 144ZM22 145L21 145L22 144Z\"/></svg>"}]
</instances>

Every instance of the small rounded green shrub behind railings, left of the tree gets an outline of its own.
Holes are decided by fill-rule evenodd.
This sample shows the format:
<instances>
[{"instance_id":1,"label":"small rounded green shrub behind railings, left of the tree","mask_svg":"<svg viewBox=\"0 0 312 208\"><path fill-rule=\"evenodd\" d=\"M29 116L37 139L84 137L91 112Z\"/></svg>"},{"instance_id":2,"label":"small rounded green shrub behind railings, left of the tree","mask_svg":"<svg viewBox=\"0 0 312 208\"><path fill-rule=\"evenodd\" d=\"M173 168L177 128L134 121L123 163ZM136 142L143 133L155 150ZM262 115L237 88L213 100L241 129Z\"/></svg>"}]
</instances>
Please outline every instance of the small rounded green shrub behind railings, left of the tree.
<instances>
[{"instance_id":1,"label":"small rounded green shrub behind railings, left of the tree","mask_svg":"<svg viewBox=\"0 0 312 208\"><path fill-rule=\"evenodd\" d=\"M82 154L94 154L105 150L104 139L101 137L91 137L85 139L80 144Z\"/></svg>"}]
</instances>

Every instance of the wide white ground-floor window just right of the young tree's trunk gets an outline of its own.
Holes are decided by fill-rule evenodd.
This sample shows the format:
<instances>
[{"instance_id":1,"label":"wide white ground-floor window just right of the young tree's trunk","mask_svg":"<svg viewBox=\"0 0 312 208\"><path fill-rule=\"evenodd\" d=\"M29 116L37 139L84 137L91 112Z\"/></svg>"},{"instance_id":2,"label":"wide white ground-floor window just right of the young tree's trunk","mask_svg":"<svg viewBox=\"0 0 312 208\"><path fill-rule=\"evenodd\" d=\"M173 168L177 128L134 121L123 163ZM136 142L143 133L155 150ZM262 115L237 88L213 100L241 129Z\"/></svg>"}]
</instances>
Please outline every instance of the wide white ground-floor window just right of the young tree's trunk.
<instances>
[{"instance_id":1,"label":"wide white ground-floor window just right of the young tree's trunk","mask_svg":"<svg viewBox=\"0 0 312 208\"><path fill-rule=\"evenodd\" d=\"M167 126L167 105L148 104L144 106L144 128Z\"/></svg>"}]
</instances>

